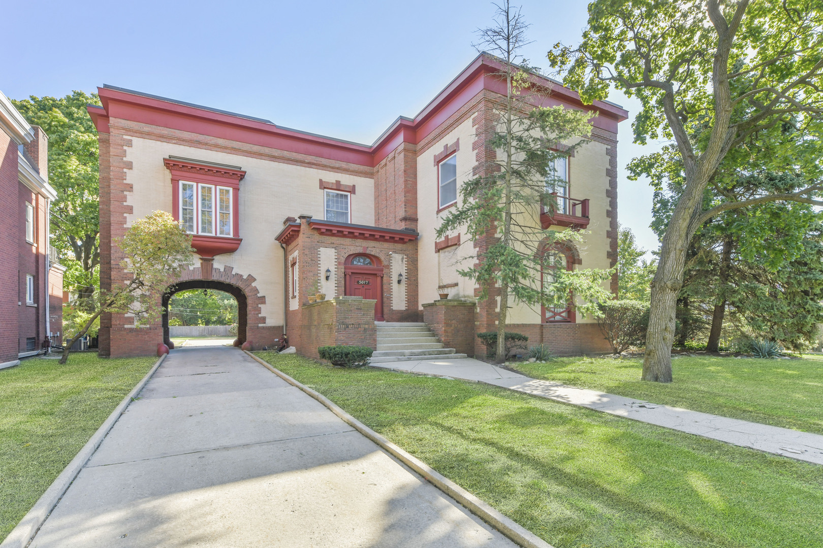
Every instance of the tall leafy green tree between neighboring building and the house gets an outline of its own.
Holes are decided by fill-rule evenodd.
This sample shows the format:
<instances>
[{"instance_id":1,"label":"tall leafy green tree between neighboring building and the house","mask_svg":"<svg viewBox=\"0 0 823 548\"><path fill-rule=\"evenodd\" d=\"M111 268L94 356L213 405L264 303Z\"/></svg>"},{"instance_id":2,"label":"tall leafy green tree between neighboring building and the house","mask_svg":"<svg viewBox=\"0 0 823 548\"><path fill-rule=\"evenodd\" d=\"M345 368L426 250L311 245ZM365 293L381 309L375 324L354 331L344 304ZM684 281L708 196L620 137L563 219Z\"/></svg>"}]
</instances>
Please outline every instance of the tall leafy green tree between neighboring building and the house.
<instances>
[{"instance_id":1,"label":"tall leafy green tree between neighboring building and the house","mask_svg":"<svg viewBox=\"0 0 823 548\"><path fill-rule=\"evenodd\" d=\"M49 184L58 193L51 208L51 245L67 267L64 287L77 292L77 306L83 308L100 286L99 151L86 112L86 104L100 99L74 91L61 99L32 95L12 103L49 136Z\"/></svg>"}]
</instances>

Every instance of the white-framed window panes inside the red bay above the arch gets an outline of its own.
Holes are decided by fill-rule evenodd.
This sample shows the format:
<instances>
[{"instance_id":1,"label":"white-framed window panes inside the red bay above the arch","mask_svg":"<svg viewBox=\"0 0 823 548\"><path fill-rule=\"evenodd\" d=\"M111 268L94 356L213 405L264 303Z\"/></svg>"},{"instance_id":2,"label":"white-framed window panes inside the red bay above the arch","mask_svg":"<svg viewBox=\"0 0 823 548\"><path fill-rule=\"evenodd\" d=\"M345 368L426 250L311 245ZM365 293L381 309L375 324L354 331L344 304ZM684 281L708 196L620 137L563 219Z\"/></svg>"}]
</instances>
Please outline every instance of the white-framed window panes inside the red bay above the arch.
<instances>
[{"instance_id":1,"label":"white-framed window panes inside the red bay above the arch","mask_svg":"<svg viewBox=\"0 0 823 548\"><path fill-rule=\"evenodd\" d=\"M231 236L231 188L180 182L180 225L187 233Z\"/></svg>"}]
</instances>

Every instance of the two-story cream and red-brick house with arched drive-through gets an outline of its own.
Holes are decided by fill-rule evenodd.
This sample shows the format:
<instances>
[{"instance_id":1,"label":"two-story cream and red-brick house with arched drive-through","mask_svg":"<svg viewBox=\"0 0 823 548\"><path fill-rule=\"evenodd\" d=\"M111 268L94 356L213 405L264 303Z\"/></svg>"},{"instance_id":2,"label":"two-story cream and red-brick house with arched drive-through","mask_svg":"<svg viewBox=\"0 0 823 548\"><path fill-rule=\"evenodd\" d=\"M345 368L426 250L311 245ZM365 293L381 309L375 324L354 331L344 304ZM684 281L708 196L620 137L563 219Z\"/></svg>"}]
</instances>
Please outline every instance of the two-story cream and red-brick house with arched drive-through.
<instances>
[{"instance_id":1,"label":"two-story cream and red-brick house with arched drive-through","mask_svg":"<svg viewBox=\"0 0 823 548\"><path fill-rule=\"evenodd\" d=\"M494 157L487 134L501 90L499 69L494 58L478 56L421 113L399 117L373 145L99 88L102 107L88 110L100 132L101 284L109 288L128 277L116 238L134 219L167 210L193 233L199 256L169 293L214 288L234 294L240 343L261 348L286 330L307 355L321 341L374 345L372 320L362 318L371 303L335 298L364 297L374 302L378 321L425 320L449 347L480 352L474 335L495 329L495 289L474 303L479 288L458 269L472 265L492 236L472 242L454 233L438 242L435 228L457 203L460 183ZM557 164L567 179L560 193L570 196L568 210L543 214L541 222L589 231L580 251L553 250L559 265L607 269L617 249L617 124L627 113L607 102L584 105L573 90L550 84L546 106L597 117L591 142ZM443 292L449 306L439 301ZM328 305L310 306L314 293L323 293ZM469 304L452 306L458 299ZM607 349L592 320L575 318L573 310L515 305L509 324L530 343L548 343L558 353ZM155 352L168 340L164 327L165 317L136 328L127 315L106 315L100 352Z\"/></svg>"}]
</instances>

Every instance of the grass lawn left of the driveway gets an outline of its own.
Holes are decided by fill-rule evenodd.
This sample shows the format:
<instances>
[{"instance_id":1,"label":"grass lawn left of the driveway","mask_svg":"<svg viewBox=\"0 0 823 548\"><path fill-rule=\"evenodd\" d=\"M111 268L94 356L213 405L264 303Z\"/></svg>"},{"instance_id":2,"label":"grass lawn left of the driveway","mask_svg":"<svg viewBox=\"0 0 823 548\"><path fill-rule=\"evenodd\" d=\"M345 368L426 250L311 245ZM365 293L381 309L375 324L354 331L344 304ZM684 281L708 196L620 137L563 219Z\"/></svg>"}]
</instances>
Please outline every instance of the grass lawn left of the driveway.
<instances>
[{"instance_id":1,"label":"grass lawn left of the driveway","mask_svg":"<svg viewBox=\"0 0 823 548\"><path fill-rule=\"evenodd\" d=\"M0 370L0 541L156 359L84 352Z\"/></svg>"}]
</instances>

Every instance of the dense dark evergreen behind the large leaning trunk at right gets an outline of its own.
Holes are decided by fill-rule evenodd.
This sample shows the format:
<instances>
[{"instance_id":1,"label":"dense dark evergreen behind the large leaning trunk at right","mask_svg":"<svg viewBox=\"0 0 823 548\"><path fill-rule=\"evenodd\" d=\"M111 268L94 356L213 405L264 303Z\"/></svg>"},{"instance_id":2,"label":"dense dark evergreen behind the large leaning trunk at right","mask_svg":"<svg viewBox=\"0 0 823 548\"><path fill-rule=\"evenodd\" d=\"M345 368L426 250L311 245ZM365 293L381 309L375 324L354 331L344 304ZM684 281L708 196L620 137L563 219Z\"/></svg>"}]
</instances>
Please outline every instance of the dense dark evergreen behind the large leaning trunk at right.
<instances>
[{"instance_id":1,"label":"dense dark evergreen behind the large leaning trunk at right","mask_svg":"<svg viewBox=\"0 0 823 548\"><path fill-rule=\"evenodd\" d=\"M805 177L791 173L718 178L723 186L707 187L707 202L725 196L742 200L763 188L792 192L807 183ZM724 196L715 196L718 189ZM672 195L678 191L681 188L670 182L655 192L653 228L658 233L665 230L677 201ZM702 328L704 336L708 334L707 350L717 351L728 318L744 337L802 349L823 320L820 231L813 206L790 201L727 210L709 219L692 237L687 252L677 338L688 338Z\"/></svg>"}]
</instances>

